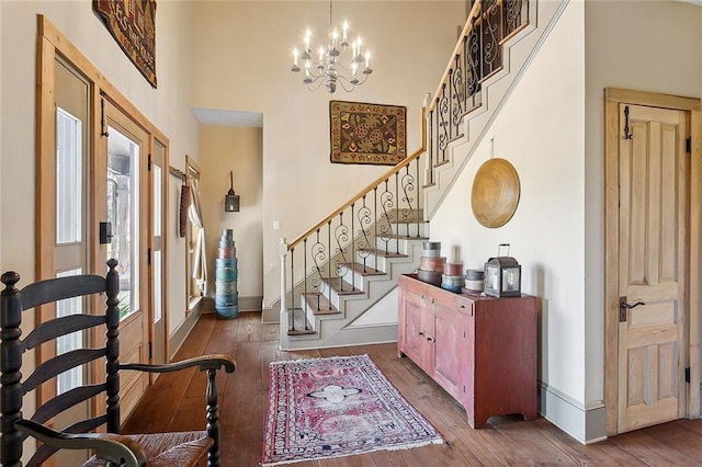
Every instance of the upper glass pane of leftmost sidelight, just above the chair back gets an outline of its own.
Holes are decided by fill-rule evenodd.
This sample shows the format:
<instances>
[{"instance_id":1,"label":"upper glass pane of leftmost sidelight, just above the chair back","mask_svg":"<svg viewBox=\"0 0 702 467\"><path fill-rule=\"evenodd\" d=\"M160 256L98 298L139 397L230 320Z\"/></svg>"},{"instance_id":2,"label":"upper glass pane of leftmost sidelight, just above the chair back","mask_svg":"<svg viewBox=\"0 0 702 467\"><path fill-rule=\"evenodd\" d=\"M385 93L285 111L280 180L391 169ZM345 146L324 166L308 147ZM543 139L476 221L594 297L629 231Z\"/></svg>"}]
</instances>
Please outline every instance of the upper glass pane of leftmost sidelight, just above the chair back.
<instances>
[{"instance_id":1,"label":"upper glass pane of leftmost sidelight, just above the chair back","mask_svg":"<svg viewBox=\"0 0 702 467\"><path fill-rule=\"evenodd\" d=\"M81 122L56 109L56 242L81 241Z\"/></svg>"}]
</instances>

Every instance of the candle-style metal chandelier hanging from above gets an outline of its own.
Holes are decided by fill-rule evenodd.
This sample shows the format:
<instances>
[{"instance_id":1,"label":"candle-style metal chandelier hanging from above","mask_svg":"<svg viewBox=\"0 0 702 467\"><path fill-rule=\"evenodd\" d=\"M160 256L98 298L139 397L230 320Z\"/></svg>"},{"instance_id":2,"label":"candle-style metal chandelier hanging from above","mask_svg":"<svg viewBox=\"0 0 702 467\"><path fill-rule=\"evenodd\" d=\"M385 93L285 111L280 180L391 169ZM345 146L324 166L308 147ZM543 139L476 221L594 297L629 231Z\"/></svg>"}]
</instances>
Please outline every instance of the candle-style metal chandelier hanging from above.
<instances>
[{"instance_id":1,"label":"candle-style metal chandelier hanging from above","mask_svg":"<svg viewBox=\"0 0 702 467\"><path fill-rule=\"evenodd\" d=\"M369 75L373 72L371 69L371 54L365 50L365 54L361 52L363 43L361 37L356 37L355 41L349 43L349 23L343 22L341 27L341 37L339 36L339 30L332 26L333 24L333 8L331 0L329 1L329 41L327 46L320 46L317 53L314 53L309 47L312 39L312 32L309 29L305 32L304 45L302 50L297 47L293 50L293 66L291 70L294 73L298 73L302 68L305 69L305 77L302 82L307 84L310 91L317 90L321 83L325 83L325 88L331 94L337 90L337 83L343 88L344 91L351 92L356 86L361 86L369 78ZM343 60L347 60L346 64ZM298 65L298 60L302 60L302 68ZM359 73L362 75L362 80L359 79ZM313 86L317 83L316 86Z\"/></svg>"}]
</instances>

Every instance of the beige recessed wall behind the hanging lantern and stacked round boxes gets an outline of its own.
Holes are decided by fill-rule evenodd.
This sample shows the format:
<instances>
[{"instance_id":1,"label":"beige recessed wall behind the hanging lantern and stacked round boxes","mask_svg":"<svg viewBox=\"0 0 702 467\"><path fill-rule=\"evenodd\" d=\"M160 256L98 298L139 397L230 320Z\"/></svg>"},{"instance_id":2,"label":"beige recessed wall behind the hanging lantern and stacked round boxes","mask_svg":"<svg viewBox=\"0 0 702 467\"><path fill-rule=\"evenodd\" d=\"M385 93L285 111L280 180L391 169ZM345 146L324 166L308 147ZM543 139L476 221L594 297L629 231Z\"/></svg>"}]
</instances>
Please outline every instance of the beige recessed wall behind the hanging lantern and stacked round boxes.
<instances>
[{"instance_id":1,"label":"beige recessed wall behind the hanging lantern and stacked round boxes","mask_svg":"<svg viewBox=\"0 0 702 467\"><path fill-rule=\"evenodd\" d=\"M211 259L207 294L215 294L214 258L222 229L234 229L240 310L245 297L258 297L259 305L263 297L262 155L261 128L200 126L201 196L207 229L207 258ZM230 170L234 171L234 191L240 196L238 213L224 210Z\"/></svg>"}]
</instances>

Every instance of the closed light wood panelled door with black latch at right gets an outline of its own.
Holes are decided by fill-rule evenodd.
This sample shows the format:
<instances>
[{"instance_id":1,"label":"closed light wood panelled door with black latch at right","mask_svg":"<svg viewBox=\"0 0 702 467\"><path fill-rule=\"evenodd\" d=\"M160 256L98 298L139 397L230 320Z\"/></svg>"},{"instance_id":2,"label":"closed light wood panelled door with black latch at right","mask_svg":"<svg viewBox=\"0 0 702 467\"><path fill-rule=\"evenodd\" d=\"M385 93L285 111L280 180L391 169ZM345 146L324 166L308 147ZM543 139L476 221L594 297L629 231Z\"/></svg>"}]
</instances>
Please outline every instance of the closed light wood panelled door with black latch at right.
<instances>
[{"instance_id":1,"label":"closed light wood panelled door with black latch at right","mask_svg":"<svg viewBox=\"0 0 702 467\"><path fill-rule=\"evenodd\" d=\"M620 433L684 414L686 118L681 111L620 104L627 124L619 150Z\"/></svg>"}]
</instances>

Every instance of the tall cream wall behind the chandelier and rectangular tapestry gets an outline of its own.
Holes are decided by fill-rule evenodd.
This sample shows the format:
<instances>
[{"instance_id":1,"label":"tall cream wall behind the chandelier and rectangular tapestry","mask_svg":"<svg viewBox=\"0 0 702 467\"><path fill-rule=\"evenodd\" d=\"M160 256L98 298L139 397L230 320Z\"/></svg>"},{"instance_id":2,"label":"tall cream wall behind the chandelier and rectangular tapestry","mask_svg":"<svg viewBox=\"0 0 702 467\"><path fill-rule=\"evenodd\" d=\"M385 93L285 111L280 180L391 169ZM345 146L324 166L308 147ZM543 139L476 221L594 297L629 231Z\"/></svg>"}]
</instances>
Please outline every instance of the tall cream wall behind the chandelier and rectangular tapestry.
<instances>
[{"instance_id":1,"label":"tall cream wall behind the chandelier and rectangular tapestry","mask_svg":"<svg viewBox=\"0 0 702 467\"><path fill-rule=\"evenodd\" d=\"M193 106L263 113L263 294L269 306L280 297L280 237L292 241L387 170L329 162L329 100L406 105L407 147L416 150L423 95L434 91L446 66L465 4L335 3L335 22L344 18L369 45L374 72L353 93L330 96L324 90L309 92L290 71L305 27L326 34L328 3L201 1L193 7ZM280 230L272 229L273 220Z\"/></svg>"}]
</instances>

